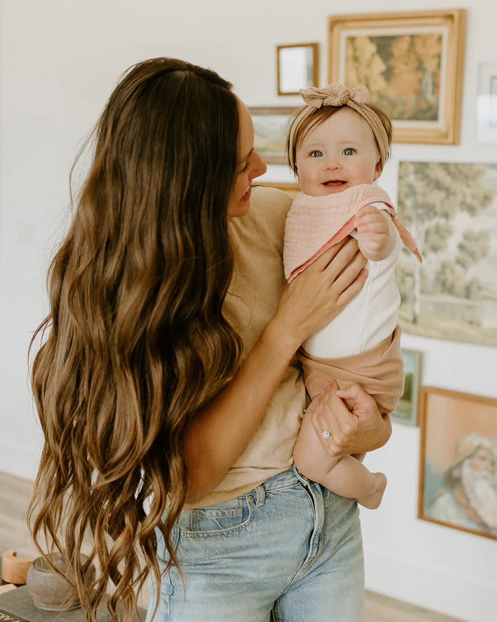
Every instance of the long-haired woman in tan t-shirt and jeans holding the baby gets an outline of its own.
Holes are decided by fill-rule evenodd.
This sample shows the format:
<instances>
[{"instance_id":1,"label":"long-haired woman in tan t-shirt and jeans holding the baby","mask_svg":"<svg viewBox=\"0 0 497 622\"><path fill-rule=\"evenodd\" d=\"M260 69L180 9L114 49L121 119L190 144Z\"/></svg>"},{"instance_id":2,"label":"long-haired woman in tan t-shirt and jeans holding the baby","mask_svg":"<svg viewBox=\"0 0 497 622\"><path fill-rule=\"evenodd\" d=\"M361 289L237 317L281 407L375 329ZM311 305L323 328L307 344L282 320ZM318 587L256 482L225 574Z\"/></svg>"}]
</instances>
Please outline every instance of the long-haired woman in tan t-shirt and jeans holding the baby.
<instances>
[{"instance_id":1,"label":"long-haired woman in tan t-shirt and jeans holding the baby","mask_svg":"<svg viewBox=\"0 0 497 622\"><path fill-rule=\"evenodd\" d=\"M364 258L349 241L284 287L291 198L251 199L265 170L231 84L179 60L131 68L97 123L32 368L45 435L33 534L55 538L90 620L109 579L113 618L130 620L148 572L156 621L302 621L298 607L316 621L330 594L336 619L359 619L357 507L301 478L291 451L305 406L295 351L360 291ZM329 453L387 441L360 388L360 419L333 387L317 402Z\"/></svg>"}]
</instances>

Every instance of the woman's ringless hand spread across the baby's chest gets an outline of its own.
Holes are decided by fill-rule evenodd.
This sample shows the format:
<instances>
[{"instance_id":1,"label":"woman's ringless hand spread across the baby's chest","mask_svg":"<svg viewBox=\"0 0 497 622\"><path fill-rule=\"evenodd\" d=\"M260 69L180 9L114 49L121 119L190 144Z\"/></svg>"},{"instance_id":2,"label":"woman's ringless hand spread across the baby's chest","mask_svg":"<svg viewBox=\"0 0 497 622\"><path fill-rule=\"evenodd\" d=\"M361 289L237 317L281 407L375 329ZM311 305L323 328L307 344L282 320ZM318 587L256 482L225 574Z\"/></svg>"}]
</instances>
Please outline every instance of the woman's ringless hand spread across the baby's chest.
<instances>
[{"instance_id":1,"label":"woman's ringless hand spread across the baby's chest","mask_svg":"<svg viewBox=\"0 0 497 622\"><path fill-rule=\"evenodd\" d=\"M302 342L335 318L362 290L367 279L366 259L353 238L328 249L283 290L268 326L277 331L282 346L300 348Z\"/></svg>"}]
</instances>

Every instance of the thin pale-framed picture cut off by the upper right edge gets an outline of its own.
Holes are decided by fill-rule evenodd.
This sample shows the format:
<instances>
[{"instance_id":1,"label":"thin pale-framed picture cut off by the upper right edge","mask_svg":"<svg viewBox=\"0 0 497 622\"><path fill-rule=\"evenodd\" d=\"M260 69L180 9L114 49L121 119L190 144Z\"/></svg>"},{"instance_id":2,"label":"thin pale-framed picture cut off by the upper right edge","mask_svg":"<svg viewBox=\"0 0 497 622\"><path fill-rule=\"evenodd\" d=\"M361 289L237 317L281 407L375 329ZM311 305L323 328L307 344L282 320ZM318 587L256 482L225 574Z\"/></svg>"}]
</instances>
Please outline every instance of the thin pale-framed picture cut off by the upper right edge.
<instances>
[{"instance_id":1,"label":"thin pale-framed picture cut off by the upper right edge","mask_svg":"<svg viewBox=\"0 0 497 622\"><path fill-rule=\"evenodd\" d=\"M481 144L497 144L497 63L480 64L476 135Z\"/></svg>"}]
</instances>

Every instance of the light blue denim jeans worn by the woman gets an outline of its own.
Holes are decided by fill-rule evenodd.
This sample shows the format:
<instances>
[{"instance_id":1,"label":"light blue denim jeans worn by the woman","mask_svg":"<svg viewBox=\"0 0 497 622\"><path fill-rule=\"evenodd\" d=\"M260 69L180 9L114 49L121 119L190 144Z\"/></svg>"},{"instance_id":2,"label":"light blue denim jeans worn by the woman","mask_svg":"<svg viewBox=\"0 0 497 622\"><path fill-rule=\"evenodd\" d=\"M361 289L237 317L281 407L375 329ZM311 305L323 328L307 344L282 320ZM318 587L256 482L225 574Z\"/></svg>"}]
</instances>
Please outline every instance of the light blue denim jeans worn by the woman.
<instances>
[{"instance_id":1,"label":"light blue denim jeans worn by the woman","mask_svg":"<svg viewBox=\"0 0 497 622\"><path fill-rule=\"evenodd\" d=\"M359 511L296 469L217 505L183 511L172 534L186 582L162 576L146 622L361 622ZM157 547L166 563L164 540Z\"/></svg>"}]
</instances>

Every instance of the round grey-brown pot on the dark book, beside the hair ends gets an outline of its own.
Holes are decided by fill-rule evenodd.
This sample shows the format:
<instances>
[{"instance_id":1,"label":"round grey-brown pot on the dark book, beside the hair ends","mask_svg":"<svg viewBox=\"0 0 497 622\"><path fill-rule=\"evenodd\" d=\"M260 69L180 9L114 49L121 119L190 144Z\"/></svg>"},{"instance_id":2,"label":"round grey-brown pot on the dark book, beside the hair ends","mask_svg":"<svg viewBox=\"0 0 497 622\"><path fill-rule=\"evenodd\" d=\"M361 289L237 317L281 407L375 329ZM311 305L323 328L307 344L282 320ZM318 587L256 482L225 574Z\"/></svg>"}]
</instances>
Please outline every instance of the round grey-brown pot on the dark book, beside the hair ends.
<instances>
[{"instance_id":1,"label":"round grey-brown pot on the dark book, beside the hair ends","mask_svg":"<svg viewBox=\"0 0 497 622\"><path fill-rule=\"evenodd\" d=\"M48 555L53 565L60 570L64 576L55 574L43 557L37 557L28 568L26 576L26 585L28 592L33 600L33 604L38 609L45 611L70 611L81 607L79 601L75 601L70 607L65 607L70 597L74 594L74 589L69 583L72 572L68 572L62 556L59 553ZM81 564L88 560L86 555L81 555ZM95 579L95 565L90 564L86 570L84 582L90 585Z\"/></svg>"}]
</instances>

